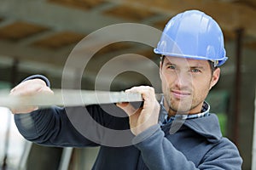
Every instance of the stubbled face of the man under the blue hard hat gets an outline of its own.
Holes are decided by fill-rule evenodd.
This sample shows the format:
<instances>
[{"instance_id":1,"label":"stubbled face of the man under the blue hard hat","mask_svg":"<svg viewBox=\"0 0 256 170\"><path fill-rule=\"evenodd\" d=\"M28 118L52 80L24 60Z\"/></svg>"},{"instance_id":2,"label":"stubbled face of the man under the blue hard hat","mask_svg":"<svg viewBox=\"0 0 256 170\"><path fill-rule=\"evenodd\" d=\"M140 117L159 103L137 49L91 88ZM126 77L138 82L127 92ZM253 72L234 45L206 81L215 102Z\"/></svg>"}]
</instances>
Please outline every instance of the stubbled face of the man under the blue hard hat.
<instances>
[{"instance_id":1,"label":"stubbled face of the man under the blue hard hat","mask_svg":"<svg viewBox=\"0 0 256 170\"><path fill-rule=\"evenodd\" d=\"M211 71L209 62L166 56L160 63L160 79L169 114L201 112L209 90L218 82L220 70Z\"/></svg>"}]
</instances>

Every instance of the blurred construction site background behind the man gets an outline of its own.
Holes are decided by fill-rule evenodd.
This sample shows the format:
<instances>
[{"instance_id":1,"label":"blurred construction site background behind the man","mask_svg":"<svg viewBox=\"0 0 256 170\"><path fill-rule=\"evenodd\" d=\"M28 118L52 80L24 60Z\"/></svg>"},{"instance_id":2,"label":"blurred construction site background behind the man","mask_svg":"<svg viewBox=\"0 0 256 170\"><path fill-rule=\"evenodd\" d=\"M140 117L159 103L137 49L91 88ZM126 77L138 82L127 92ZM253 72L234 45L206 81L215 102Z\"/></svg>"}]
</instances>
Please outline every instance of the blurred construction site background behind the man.
<instances>
[{"instance_id":1,"label":"blurred construction site background behind the man","mask_svg":"<svg viewBox=\"0 0 256 170\"><path fill-rule=\"evenodd\" d=\"M127 22L163 30L172 16L187 9L200 9L211 15L224 31L229 60L207 101L212 112L218 114L224 136L238 146L242 168L251 169L256 81L254 0L0 0L0 88L10 89L34 74L48 77L52 88L61 88L69 54L91 32ZM155 42L160 38L152 37ZM91 48L97 48L97 44ZM101 48L85 68L74 66L70 70L70 81L80 79L77 73L84 69L79 86L96 89L102 66L121 54L146 57L148 63L133 57L125 58L123 65L140 67L155 77L154 82L159 82L158 71L150 66L152 62L159 65L159 56L152 47L139 42L114 42ZM101 79L97 89L104 90L111 76L108 74L111 72L104 72L105 79ZM125 71L113 79L110 88L119 91L143 84L153 85L143 74ZM77 84L73 88L78 88ZM154 88L160 92L160 84ZM98 148L62 149L31 144L18 133L10 111L0 108L0 112L0 169L91 168Z\"/></svg>"}]
</instances>

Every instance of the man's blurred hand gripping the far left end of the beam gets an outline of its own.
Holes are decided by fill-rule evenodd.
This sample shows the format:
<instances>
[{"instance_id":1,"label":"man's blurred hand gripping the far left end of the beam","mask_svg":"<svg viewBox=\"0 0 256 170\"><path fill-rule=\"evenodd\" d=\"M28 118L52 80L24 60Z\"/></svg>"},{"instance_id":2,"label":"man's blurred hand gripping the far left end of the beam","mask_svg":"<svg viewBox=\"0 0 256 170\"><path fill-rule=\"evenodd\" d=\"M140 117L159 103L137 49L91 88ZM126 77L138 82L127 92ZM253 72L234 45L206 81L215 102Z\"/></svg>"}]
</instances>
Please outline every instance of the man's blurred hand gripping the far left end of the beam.
<instances>
[{"instance_id":1,"label":"man's blurred hand gripping the far left end of the beam","mask_svg":"<svg viewBox=\"0 0 256 170\"><path fill-rule=\"evenodd\" d=\"M41 79L27 80L26 82L21 82L15 88L10 91L10 95L13 96L29 96L39 93L53 94L53 91L46 86L46 83ZM29 113L38 110L37 105L32 106L20 106L19 108L10 108L14 113Z\"/></svg>"}]
</instances>

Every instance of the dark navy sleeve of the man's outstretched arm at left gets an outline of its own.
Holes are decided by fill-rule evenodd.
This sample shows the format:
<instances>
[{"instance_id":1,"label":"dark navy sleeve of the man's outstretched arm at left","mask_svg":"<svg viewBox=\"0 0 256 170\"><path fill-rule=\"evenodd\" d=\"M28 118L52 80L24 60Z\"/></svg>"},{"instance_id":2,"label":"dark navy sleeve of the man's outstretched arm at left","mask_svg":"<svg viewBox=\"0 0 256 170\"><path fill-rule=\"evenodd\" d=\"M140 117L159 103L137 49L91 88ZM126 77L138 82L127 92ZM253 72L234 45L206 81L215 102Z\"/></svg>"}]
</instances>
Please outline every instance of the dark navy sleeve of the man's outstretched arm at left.
<instances>
[{"instance_id":1,"label":"dark navy sleeve of the man's outstretched arm at left","mask_svg":"<svg viewBox=\"0 0 256 170\"><path fill-rule=\"evenodd\" d=\"M27 77L26 80L40 78L49 86L49 80L41 75ZM23 81L23 82L24 82ZM119 110L120 111L120 110ZM50 146L84 147L101 144L106 138L103 127L129 128L127 118L111 116L101 105L76 107L51 107L15 114L15 124L21 135L32 142Z\"/></svg>"}]
</instances>

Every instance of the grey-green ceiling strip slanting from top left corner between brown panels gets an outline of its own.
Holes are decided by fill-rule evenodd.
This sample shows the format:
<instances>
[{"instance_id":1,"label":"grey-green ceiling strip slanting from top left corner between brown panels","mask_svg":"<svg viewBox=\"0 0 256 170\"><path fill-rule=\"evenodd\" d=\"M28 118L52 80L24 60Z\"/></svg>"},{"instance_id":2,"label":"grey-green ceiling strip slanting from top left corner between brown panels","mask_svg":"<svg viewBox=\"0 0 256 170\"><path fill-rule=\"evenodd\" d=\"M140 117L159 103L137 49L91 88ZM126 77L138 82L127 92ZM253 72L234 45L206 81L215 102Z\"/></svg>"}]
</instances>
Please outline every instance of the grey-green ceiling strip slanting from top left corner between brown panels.
<instances>
[{"instance_id":1,"label":"grey-green ceiling strip slanting from top left corner between brown panels","mask_svg":"<svg viewBox=\"0 0 256 170\"><path fill-rule=\"evenodd\" d=\"M29 10L27 10L29 8ZM51 30L67 30L88 33L123 20L91 11L62 7L43 0L5 0L0 5L0 17L4 20L24 20L49 27Z\"/></svg>"}]
</instances>

